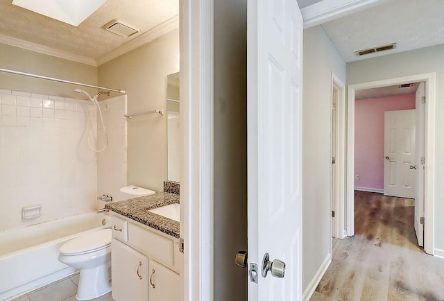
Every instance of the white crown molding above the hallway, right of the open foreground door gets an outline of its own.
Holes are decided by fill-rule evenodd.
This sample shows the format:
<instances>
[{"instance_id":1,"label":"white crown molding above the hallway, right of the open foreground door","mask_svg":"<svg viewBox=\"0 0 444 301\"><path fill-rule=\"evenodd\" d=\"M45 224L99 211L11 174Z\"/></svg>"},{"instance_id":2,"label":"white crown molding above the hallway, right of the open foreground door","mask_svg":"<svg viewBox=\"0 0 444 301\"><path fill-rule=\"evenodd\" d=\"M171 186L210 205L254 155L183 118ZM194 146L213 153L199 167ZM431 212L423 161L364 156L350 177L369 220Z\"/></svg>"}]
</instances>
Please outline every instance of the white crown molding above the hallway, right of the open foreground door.
<instances>
[{"instance_id":1,"label":"white crown molding above the hallway, right of the open foreground door","mask_svg":"<svg viewBox=\"0 0 444 301\"><path fill-rule=\"evenodd\" d=\"M300 10L304 19L304 28L338 19L386 0L323 0Z\"/></svg>"}]
</instances>

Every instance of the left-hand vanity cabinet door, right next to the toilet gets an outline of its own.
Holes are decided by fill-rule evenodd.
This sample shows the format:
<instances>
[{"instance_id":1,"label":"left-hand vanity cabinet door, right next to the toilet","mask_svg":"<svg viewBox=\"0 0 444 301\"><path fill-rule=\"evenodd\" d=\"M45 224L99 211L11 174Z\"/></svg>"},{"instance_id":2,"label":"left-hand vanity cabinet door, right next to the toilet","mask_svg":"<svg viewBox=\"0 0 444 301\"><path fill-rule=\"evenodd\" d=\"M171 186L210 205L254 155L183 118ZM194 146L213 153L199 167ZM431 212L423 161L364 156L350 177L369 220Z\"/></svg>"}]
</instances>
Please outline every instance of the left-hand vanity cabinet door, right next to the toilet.
<instances>
[{"instance_id":1,"label":"left-hand vanity cabinet door, right next to the toilet","mask_svg":"<svg viewBox=\"0 0 444 301\"><path fill-rule=\"evenodd\" d=\"M115 301L148 300L148 257L112 239L111 270Z\"/></svg>"}]
</instances>

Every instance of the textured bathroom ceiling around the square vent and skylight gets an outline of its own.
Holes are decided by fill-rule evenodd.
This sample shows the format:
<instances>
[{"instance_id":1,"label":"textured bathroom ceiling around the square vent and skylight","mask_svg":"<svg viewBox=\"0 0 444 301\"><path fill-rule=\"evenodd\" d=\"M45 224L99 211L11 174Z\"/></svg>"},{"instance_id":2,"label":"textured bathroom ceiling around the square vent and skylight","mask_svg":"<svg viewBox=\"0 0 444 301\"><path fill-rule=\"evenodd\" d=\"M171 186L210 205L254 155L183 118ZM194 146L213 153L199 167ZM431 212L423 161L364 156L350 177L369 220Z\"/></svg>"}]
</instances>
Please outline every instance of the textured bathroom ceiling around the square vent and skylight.
<instances>
[{"instance_id":1,"label":"textured bathroom ceiling around the square vent and skylight","mask_svg":"<svg viewBox=\"0 0 444 301\"><path fill-rule=\"evenodd\" d=\"M179 0L108 0L75 27L11 2L0 0L0 34L94 59L179 13ZM102 26L112 19L132 24L139 33L128 38L105 31Z\"/></svg>"}]
</instances>

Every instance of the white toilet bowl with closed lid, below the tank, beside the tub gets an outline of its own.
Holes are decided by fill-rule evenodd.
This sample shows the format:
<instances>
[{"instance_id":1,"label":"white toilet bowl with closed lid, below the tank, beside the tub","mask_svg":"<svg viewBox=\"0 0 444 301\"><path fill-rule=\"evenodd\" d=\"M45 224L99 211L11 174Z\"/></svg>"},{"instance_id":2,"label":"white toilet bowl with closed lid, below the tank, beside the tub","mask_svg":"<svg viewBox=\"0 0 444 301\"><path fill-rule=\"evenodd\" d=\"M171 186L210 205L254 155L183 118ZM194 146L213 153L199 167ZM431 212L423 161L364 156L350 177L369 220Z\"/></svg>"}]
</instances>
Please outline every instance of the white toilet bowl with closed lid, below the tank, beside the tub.
<instances>
[{"instance_id":1,"label":"white toilet bowl with closed lid, below the tank, beside the tub","mask_svg":"<svg viewBox=\"0 0 444 301\"><path fill-rule=\"evenodd\" d=\"M111 229L81 234L60 247L58 260L80 269L77 300L90 300L111 291Z\"/></svg>"}]
</instances>

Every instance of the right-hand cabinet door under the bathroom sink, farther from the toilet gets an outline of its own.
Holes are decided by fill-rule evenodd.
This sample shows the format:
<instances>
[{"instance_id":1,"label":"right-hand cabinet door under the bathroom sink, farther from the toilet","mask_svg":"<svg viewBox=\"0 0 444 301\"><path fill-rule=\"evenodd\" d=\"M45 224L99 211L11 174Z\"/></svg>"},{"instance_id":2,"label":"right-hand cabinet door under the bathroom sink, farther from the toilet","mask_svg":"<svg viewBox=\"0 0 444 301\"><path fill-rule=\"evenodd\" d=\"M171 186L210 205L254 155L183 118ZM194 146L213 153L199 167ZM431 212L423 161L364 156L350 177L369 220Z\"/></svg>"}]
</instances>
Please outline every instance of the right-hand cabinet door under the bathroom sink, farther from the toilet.
<instances>
[{"instance_id":1,"label":"right-hand cabinet door under the bathroom sink, farther from the toilet","mask_svg":"<svg viewBox=\"0 0 444 301\"><path fill-rule=\"evenodd\" d=\"M149 301L181 301L182 282L180 275L154 260L149 265Z\"/></svg>"}]
</instances>

